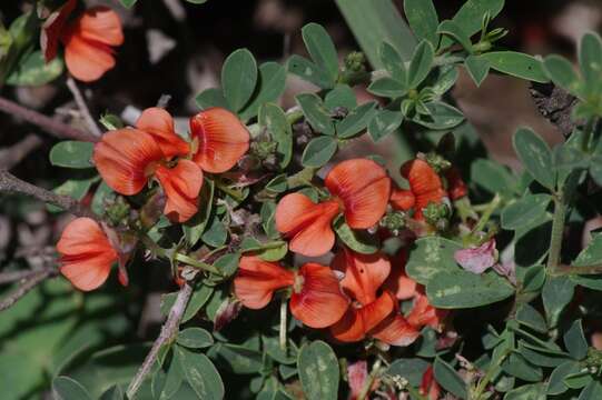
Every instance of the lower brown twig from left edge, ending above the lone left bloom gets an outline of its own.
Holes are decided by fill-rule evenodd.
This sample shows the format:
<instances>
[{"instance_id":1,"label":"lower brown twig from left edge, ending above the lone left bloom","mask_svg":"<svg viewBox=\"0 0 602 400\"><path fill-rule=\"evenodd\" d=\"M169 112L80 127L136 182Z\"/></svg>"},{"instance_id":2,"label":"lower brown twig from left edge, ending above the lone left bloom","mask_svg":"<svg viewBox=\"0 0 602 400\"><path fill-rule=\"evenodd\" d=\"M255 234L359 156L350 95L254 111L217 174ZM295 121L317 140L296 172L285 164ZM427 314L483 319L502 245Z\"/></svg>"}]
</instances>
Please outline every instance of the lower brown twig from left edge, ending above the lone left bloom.
<instances>
[{"instance_id":1,"label":"lower brown twig from left edge, ending above the lone left bloom","mask_svg":"<svg viewBox=\"0 0 602 400\"><path fill-rule=\"evenodd\" d=\"M95 218L93 213L81 206L79 201L68 196L60 196L49 190L38 188L34 184L20 180L6 170L0 170L0 192L30 196L43 202L60 207L73 216Z\"/></svg>"}]
</instances>

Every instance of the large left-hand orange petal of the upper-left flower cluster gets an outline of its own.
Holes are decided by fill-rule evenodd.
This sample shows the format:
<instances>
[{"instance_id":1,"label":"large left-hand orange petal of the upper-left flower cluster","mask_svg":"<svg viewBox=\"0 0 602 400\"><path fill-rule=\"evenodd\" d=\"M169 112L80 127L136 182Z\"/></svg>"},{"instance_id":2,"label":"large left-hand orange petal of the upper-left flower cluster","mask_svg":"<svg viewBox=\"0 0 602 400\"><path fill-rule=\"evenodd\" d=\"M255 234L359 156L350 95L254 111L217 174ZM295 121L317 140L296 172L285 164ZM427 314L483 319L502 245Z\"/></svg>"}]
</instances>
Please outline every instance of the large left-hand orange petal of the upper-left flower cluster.
<instances>
[{"instance_id":1,"label":"large left-hand orange petal of the upper-left flower cluster","mask_svg":"<svg viewBox=\"0 0 602 400\"><path fill-rule=\"evenodd\" d=\"M147 183L146 169L161 160L161 149L152 137L136 129L119 129L102 136L92 159L107 184L118 193L138 193Z\"/></svg>"}]
</instances>

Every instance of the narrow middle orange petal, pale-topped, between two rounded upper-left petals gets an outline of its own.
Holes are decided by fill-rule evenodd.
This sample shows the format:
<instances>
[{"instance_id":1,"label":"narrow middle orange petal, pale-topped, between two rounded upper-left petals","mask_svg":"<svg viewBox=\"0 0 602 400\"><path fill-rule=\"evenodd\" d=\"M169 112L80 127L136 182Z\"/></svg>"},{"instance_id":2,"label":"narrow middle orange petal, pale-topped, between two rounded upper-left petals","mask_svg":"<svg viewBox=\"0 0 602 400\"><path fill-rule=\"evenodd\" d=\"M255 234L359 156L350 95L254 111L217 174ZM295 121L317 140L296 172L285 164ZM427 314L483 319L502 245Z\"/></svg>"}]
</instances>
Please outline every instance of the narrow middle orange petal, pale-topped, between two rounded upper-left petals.
<instances>
[{"instance_id":1,"label":"narrow middle orange petal, pale-topped, between two rounded upper-left petals","mask_svg":"<svg viewBox=\"0 0 602 400\"><path fill-rule=\"evenodd\" d=\"M166 158L190 152L190 146L174 129L174 118L162 108L151 107L142 111L136 128L151 134Z\"/></svg>"}]
</instances>

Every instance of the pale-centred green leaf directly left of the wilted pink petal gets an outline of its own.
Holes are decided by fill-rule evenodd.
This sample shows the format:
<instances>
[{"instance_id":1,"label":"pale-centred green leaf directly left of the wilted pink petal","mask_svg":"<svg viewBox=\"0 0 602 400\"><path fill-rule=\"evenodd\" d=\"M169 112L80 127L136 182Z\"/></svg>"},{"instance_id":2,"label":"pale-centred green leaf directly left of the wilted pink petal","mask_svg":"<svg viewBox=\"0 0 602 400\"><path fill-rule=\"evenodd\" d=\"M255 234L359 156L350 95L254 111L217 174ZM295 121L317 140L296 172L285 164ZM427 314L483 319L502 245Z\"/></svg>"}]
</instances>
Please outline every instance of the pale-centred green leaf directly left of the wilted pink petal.
<instances>
[{"instance_id":1,"label":"pale-centred green leaf directly left of the wilted pink petal","mask_svg":"<svg viewBox=\"0 0 602 400\"><path fill-rule=\"evenodd\" d=\"M421 284L430 283L436 274L458 270L454 253L462 246L441 237L427 237L416 240L409 251L406 273Z\"/></svg>"}]
</instances>

